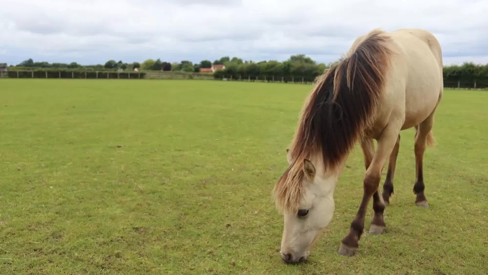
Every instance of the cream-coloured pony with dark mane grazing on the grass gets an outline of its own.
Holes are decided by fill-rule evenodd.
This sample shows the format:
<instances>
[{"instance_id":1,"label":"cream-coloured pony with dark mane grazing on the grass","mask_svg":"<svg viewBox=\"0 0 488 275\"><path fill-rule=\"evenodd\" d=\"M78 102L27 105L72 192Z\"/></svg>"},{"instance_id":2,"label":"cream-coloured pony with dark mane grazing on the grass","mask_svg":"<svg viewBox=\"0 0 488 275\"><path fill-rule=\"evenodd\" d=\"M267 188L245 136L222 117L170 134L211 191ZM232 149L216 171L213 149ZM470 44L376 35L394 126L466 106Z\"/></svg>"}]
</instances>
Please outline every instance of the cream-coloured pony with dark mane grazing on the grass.
<instances>
[{"instance_id":1,"label":"cream-coloured pony with dark mane grazing on the grass","mask_svg":"<svg viewBox=\"0 0 488 275\"><path fill-rule=\"evenodd\" d=\"M357 252L371 198L374 216L369 232L384 232L383 213L393 194L400 132L412 127L416 129L415 204L428 207L423 158L426 147L435 144L434 114L443 91L441 46L424 29L387 32L375 28L356 38L339 62L317 77L286 150L288 168L273 188L284 218L280 255L285 263L306 260L331 222L334 189L356 142L364 157L363 195L349 232L340 242L339 254Z\"/></svg>"}]
</instances>

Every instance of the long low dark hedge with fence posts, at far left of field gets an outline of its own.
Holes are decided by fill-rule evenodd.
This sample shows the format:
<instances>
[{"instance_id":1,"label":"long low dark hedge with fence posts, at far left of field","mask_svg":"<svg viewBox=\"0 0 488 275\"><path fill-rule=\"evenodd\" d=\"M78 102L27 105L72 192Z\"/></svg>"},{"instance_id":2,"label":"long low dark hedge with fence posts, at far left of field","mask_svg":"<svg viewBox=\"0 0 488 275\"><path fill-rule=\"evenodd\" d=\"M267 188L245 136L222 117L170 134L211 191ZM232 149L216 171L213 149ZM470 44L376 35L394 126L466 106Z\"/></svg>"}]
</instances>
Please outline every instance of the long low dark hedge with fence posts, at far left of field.
<instances>
[{"instance_id":1,"label":"long low dark hedge with fence posts, at far left of field","mask_svg":"<svg viewBox=\"0 0 488 275\"><path fill-rule=\"evenodd\" d=\"M30 70L8 71L9 78L90 78L90 79L143 79L145 72L78 71L78 70Z\"/></svg>"}]
</instances>

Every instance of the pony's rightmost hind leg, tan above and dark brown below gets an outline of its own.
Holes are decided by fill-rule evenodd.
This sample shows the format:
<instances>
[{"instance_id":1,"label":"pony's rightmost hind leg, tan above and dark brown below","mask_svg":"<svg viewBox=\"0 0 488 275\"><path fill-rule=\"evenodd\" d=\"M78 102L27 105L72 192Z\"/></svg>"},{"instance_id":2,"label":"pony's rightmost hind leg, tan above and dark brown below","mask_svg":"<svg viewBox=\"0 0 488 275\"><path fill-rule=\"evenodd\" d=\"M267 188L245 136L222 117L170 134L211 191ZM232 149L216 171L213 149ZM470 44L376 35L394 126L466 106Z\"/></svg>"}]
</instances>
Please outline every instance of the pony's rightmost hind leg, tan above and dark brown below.
<instances>
[{"instance_id":1,"label":"pony's rightmost hind leg, tan above and dark brown below","mask_svg":"<svg viewBox=\"0 0 488 275\"><path fill-rule=\"evenodd\" d=\"M427 145L432 146L434 143L434 138L432 135L432 126L434 124L434 114L430 115L425 119L417 128L417 133L415 134L415 184L413 185L413 193L417 196L415 199L415 205L420 207L428 208L429 204L424 194L424 152Z\"/></svg>"}]
</instances>

